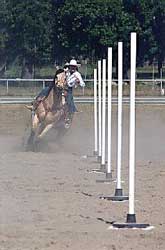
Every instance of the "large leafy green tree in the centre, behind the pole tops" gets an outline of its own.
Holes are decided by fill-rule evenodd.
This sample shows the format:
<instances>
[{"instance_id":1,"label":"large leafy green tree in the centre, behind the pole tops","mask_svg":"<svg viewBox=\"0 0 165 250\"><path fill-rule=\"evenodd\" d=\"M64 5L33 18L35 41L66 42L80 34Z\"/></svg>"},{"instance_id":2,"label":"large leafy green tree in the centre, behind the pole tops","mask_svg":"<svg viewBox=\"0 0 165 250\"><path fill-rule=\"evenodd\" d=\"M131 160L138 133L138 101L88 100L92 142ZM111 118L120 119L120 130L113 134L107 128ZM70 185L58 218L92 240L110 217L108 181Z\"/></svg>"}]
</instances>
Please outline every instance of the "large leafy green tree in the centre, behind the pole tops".
<instances>
[{"instance_id":1,"label":"large leafy green tree in the centre, behind the pole tops","mask_svg":"<svg viewBox=\"0 0 165 250\"><path fill-rule=\"evenodd\" d=\"M131 31L140 27L134 14L125 11L121 0L65 0L56 9L57 38L65 56L95 59L107 56L107 47L125 42L125 71L128 68L128 49ZM116 58L116 56L114 56Z\"/></svg>"}]
</instances>

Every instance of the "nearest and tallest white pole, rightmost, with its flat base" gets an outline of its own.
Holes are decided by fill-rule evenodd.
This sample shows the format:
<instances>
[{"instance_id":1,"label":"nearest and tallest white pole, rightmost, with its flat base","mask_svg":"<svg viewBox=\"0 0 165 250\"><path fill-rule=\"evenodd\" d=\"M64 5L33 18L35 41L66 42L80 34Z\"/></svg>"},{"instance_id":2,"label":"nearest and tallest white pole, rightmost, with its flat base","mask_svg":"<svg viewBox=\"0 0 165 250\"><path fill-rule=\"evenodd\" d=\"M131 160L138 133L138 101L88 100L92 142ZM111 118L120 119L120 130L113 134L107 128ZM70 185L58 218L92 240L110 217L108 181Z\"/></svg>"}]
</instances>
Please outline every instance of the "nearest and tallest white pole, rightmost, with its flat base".
<instances>
[{"instance_id":1,"label":"nearest and tallest white pole, rightmost, with its flat base","mask_svg":"<svg viewBox=\"0 0 165 250\"><path fill-rule=\"evenodd\" d=\"M130 134L129 134L129 213L126 223L113 223L115 228L147 228L146 223L136 223L135 203L135 79L136 79L136 33L131 33L131 79L130 79Z\"/></svg>"}]
</instances>

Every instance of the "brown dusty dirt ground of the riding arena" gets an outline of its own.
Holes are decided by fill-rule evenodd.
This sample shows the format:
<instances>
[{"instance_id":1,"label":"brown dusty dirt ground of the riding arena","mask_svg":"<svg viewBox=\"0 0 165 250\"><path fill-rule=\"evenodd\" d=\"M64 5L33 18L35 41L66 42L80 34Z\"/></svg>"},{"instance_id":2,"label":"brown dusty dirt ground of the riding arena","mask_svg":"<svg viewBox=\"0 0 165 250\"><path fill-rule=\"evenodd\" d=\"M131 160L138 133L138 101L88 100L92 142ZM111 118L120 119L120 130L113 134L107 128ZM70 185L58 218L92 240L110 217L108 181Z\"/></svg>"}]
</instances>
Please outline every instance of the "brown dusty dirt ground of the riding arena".
<instances>
[{"instance_id":1,"label":"brown dusty dirt ground of the riding arena","mask_svg":"<svg viewBox=\"0 0 165 250\"><path fill-rule=\"evenodd\" d=\"M40 152L22 146L30 114L20 105L0 106L0 250L164 250L165 107L137 106L137 222L152 230L114 230L104 221L125 222L128 202L102 200L115 182L93 155L93 107L80 106L71 129L58 142L55 131ZM116 177L116 106L113 106L112 170ZM129 108L123 112L122 187L128 193Z\"/></svg>"}]
</instances>

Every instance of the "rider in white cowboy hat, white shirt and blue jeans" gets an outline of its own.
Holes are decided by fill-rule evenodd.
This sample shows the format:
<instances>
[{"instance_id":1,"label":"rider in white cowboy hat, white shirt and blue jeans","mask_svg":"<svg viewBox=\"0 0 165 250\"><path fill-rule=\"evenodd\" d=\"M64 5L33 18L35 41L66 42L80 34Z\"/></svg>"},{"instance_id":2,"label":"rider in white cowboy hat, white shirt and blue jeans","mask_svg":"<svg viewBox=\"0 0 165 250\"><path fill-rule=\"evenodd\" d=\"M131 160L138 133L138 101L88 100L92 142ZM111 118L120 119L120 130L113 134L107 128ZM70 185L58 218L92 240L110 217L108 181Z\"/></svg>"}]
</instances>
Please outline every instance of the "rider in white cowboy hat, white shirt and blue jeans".
<instances>
[{"instance_id":1,"label":"rider in white cowboy hat, white shirt and blue jeans","mask_svg":"<svg viewBox=\"0 0 165 250\"><path fill-rule=\"evenodd\" d=\"M70 114L78 112L73 100L73 87L77 87L77 85L85 87L85 82L83 81L81 74L78 72L78 66L77 61L72 59L69 63L69 74L66 78L68 86L66 102L68 104Z\"/></svg>"}]
</instances>

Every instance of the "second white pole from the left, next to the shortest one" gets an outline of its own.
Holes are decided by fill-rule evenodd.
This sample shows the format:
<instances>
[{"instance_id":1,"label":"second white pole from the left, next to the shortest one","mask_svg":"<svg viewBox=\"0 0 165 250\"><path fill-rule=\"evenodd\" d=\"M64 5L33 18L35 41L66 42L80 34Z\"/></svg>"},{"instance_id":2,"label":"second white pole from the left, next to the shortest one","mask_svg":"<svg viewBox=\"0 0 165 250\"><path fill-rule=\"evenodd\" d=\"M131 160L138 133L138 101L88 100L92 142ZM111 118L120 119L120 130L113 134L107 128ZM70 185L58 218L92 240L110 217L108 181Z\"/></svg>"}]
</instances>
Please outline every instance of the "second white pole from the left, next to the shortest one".
<instances>
[{"instance_id":1,"label":"second white pole from the left, next to the shortest one","mask_svg":"<svg viewBox=\"0 0 165 250\"><path fill-rule=\"evenodd\" d=\"M98 61L98 97L99 97L99 154L98 157L101 159L101 61Z\"/></svg>"}]
</instances>

